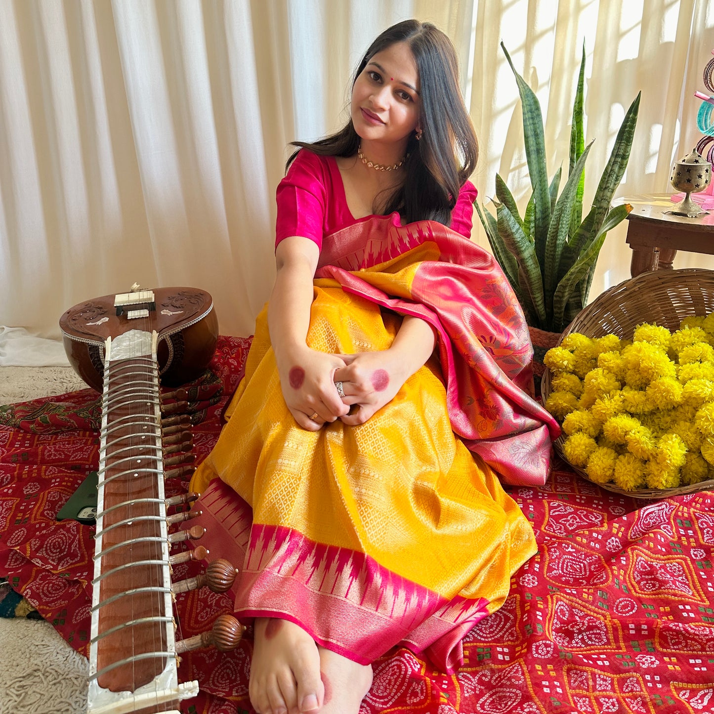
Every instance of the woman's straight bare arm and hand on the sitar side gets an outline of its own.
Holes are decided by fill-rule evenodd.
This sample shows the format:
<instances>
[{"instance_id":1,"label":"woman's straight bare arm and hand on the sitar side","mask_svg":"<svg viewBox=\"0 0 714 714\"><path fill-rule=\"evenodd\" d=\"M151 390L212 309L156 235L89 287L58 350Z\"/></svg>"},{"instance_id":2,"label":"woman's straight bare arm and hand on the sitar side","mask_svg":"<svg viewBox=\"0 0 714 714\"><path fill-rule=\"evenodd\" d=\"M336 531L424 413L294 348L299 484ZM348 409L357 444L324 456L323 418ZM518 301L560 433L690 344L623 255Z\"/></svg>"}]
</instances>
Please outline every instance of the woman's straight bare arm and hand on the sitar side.
<instances>
[{"instance_id":1,"label":"woman's straight bare arm and hand on the sitar side","mask_svg":"<svg viewBox=\"0 0 714 714\"><path fill-rule=\"evenodd\" d=\"M283 397L295 421L310 431L348 412L333 382L344 361L312 350L306 343L319 254L309 238L291 236L278 243L277 276L268 303L268 329ZM313 421L310 417L315 412L318 417Z\"/></svg>"}]
</instances>

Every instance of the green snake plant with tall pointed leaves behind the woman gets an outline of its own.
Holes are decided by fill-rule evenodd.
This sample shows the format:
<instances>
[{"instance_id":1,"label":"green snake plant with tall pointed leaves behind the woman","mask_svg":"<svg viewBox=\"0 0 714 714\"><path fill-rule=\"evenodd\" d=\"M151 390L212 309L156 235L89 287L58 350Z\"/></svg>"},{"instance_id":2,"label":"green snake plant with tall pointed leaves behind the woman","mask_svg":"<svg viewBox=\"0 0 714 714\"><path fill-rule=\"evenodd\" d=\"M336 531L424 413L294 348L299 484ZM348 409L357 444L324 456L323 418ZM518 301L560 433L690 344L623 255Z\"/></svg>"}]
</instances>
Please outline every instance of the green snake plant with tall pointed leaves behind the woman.
<instances>
[{"instance_id":1,"label":"green snake plant with tall pointed leaves behind the woman","mask_svg":"<svg viewBox=\"0 0 714 714\"><path fill-rule=\"evenodd\" d=\"M513 67L523 105L523 135L533 193L523 217L513 194L496 174L496 216L476 203L478 216L491 243L491 250L508 281L529 325L561 332L588 301L595 262L605 235L627 216L630 206L610 208L613 193L625 173L640 106L640 94L630 105L618 131L615 146L598 184L590 212L583 219L585 160L592 141L585 146L583 134L583 85L585 46L580 63L578 89L570 129L568 180L558 195L561 170L548 181L545 169L545 139L540 103L531 87Z\"/></svg>"}]
</instances>

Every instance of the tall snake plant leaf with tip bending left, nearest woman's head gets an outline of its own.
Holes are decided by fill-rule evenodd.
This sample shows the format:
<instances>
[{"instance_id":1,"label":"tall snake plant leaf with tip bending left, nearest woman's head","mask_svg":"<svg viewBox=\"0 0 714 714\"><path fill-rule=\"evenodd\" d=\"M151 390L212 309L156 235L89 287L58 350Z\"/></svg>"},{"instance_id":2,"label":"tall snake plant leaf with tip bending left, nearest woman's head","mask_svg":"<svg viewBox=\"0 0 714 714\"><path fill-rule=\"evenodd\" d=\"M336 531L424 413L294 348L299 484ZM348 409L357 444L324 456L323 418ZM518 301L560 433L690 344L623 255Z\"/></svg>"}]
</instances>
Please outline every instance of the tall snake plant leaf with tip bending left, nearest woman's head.
<instances>
[{"instance_id":1,"label":"tall snake plant leaf with tip bending left, nearest woman's head","mask_svg":"<svg viewBox=\"0 0 714 714\"><path fill-rule=\"evenodd\" d=\"M543 268L545 261L545 239L548 236L550 223L550 196L548 195L548 171L545 169L545 135L543 133L543 114L540 112L540 102L531 87L526 84L523 77L518 74L511 61L511 55L506 50L506 45L501 42L501 49L506 54L508 64L516 76L518 94L521 96L523 106L523 138L526 141L526 159L528 160L528 174L531 176L533 187L533 225L535 238L535 254L538 264Z\"/></svg>"}]
</instances>

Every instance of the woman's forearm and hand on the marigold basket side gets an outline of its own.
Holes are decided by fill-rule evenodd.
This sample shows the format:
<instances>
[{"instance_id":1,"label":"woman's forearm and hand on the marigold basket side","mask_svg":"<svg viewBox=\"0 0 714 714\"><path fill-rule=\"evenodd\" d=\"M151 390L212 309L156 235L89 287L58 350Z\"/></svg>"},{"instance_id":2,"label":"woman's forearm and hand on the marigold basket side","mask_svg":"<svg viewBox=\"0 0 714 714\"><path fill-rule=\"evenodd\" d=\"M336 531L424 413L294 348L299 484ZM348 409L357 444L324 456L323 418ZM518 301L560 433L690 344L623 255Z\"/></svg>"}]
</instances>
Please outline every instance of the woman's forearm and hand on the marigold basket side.
<instances>
[{"instance_id":1,"label":"woman's forearm and hand on the marigold basket side","mask_svg":"<svg viewBox=\"0 0 714 714\"><path fill-rule=\"evenodd\" d=\"M346 366L335 373L342 382L343 403L359 408L341 420L351 426L365 423L392 401L403 383L428 360L435 337L431 326L418 317L405 316L391 347L380 352L340 355Z\"/></svg>"}]
</instances>

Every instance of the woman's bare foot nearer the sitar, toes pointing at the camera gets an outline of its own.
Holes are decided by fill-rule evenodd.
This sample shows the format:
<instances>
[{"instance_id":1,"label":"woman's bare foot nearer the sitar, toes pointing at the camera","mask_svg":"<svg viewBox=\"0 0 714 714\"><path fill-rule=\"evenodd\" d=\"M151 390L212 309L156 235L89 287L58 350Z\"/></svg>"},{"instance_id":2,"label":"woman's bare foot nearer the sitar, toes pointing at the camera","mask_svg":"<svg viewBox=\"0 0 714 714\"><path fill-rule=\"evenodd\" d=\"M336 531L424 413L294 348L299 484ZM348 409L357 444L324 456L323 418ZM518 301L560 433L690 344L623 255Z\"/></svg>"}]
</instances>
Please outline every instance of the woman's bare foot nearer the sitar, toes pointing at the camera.
<instances>
[{"instance_id":1,"label":"woman's bare foot nearer the sitar, toes pointing at the camera","mask_svg":"<svg viewBox=\"0 0 714 714\"><path fill-rule=\"evenodd\" d=\"M256 618L248 693L258 714L316 713L324 687L315 640L289 620Z\"/></svg>"}]
</instances>

